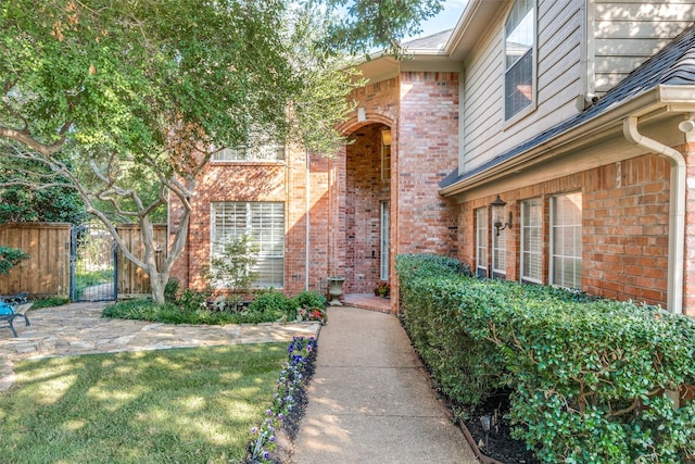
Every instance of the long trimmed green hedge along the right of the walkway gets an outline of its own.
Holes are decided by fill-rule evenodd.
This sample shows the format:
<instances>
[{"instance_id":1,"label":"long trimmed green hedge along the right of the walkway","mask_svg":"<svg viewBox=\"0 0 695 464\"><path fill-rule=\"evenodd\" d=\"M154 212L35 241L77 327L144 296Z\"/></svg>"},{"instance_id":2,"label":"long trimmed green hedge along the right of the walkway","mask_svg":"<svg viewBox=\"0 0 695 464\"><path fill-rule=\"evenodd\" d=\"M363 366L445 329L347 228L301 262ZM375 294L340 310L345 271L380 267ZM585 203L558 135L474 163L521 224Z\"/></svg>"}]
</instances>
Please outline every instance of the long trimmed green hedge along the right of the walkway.
<instances>
[{"instance_id":1,"label":"long trimmed green hedge along the right of the walkway","mask_svg":"<svg viewBox=\"0 0 695 464\"><path fill-rule=\"evenodd\" d=\"M403 322L434 381L473 405L506 387L514 434L544 462L682 463L695 453L695 318L552 287L477 279L400 255Z\"/></svg>"}]
</instances>

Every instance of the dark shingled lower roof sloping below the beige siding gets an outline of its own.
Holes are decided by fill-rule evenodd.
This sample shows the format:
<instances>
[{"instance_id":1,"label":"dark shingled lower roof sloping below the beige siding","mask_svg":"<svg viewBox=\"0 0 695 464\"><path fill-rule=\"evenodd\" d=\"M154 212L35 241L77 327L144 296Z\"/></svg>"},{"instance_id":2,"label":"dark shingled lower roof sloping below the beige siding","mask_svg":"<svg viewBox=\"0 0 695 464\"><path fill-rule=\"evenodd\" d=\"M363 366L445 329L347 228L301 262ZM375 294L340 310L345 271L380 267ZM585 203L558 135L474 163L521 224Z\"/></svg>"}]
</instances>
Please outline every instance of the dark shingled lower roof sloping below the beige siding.
<instances>
[{"instance_id":1,"label":"dark shingled lower roof sloping below the beige siding","mask_svg":"<svg viewBox=\"0 0 695 464\"><path fill-rule=\"evenodd\" d=\"M695 25L685 29L669 45L664 47L664 49L642 63L642 65L630 73L628 77L586 110L478 167L460 175L457 175L457 172L454 171L440 183L440 188L446 188L458 181L468 179L500 163L520 155L658 85L695 85ZM695 88L693 91L695 92Z\"/></svg>"}]
</instances>

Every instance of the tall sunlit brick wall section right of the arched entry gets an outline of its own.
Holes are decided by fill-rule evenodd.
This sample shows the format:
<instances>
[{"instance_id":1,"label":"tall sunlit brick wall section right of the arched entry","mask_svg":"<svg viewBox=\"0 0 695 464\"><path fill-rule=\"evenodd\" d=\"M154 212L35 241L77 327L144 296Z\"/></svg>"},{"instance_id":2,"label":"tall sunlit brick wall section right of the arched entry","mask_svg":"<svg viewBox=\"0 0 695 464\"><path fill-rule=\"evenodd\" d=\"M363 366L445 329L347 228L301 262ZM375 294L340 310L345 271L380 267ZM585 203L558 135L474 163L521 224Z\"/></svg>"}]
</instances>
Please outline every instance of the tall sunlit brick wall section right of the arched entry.
<instances>
[{"instance_id":1,"label":"tall sunlit brick wall section right of the arched entry","mask_svg":"<svg viewBox=\"0 0 695 464\"><path fill-rule=\"evenodd\" d=\"M394 198L397 253L457 253L455 201L439 183L458 163L458 74L402 73Z\"/></svg>"}]
</instances>

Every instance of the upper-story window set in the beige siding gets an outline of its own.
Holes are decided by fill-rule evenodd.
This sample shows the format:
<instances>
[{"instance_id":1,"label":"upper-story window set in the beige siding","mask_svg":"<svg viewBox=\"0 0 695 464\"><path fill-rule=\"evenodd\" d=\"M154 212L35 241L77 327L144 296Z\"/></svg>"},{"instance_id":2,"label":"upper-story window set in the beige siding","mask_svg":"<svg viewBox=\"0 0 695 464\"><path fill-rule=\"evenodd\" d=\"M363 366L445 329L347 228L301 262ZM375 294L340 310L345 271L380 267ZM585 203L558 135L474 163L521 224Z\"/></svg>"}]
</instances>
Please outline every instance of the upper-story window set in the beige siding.
<instances>
[{"instance_id":1,"label":"upper-story window set in the beige siding","mask_svg":"<svg viewBox=\"0 0 695 464\"><path fill-rule=\"evenodd\" d=\"M533 0L517 0L504 24L504 118L534 101L535 12Z\"/></svg>"}]
</instances>

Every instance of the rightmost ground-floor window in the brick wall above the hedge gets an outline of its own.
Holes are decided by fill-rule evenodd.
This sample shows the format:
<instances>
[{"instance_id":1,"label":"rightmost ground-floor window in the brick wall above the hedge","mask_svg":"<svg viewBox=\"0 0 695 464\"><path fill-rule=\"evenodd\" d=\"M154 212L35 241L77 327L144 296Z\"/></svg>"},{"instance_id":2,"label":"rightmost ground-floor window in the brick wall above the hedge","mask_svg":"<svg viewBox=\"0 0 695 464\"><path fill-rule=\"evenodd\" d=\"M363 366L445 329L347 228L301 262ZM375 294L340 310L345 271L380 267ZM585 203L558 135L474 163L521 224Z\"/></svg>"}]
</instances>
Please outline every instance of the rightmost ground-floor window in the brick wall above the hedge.
<instances>
[{"instance_id":1,"label":"rightmost ground-floor window in the brick wall above the hedge","mask_svg":"<svg viewBox=\"0 0 695 464\"><path fill-rule=\"evenodd\" d=\"M581 288L582 195L553 197L551 201L551 284Z\"/></svg>"}]
</instances>

